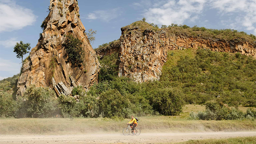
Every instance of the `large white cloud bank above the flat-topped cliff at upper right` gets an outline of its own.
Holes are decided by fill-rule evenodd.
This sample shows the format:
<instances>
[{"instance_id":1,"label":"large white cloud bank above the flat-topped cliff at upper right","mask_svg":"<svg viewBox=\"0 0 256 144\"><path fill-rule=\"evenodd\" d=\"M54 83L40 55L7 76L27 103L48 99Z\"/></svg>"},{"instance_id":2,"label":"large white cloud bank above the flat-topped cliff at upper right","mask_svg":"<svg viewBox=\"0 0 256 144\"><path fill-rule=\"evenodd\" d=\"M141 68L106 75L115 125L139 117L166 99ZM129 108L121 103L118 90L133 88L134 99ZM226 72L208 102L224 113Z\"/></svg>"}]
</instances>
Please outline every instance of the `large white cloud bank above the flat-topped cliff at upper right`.
<instances>
[{"instance_id":1,"label":"large white cloud bank above the flat-topped cliff at upper right","mask_svg":"<svg viewBox=\"0 0 256 144\"><path fill-rule=\"evenodd\" d=\"M244 28L256 34L256 0L151 0L151 3L143 13L150 23L170 25L184 24L185 20L196 22L212 9L220 14L220 20L225 21L221 24L228 28ZM142 1L140 5L143 5Z\"/></svg>"}]
</instances>

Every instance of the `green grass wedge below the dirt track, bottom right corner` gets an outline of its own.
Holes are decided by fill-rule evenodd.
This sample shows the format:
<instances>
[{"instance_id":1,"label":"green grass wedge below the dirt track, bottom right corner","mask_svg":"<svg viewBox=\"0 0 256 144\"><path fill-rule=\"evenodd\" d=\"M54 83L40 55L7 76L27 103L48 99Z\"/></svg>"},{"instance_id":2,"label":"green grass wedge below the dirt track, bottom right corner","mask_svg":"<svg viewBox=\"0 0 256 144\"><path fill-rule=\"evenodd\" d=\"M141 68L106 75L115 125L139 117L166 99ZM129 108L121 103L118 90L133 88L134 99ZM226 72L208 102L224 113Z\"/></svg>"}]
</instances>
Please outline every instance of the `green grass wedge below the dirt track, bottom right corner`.
<instances>
[{"instance_id":1,"label":"green grass wedge below the dirt track, bottom right corner","mask_svg":"<svg viewBox=\"0 0 256 144\"><path fill-rule=\"evenodd\" d=\"M189 140L176 144L255 144L256 137L237 137L228 139L206 139L206 140Z\"/></svg>"}]
</instances>

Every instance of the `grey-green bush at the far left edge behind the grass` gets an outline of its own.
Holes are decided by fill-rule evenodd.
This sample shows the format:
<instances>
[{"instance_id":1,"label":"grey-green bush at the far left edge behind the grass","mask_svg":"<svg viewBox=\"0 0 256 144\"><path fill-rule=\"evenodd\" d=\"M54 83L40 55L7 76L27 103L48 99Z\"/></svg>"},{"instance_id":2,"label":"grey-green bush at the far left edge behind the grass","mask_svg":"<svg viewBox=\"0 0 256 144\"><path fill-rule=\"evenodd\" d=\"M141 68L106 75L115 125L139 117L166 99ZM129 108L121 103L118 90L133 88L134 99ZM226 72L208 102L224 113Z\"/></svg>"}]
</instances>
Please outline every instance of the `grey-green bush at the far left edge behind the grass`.
<instances>
[{"instance_id":1,"label":"grey-green bush at the far left edge behind the grass","mask_svg":"<svg viewBox=\"0 0 256 144\"><path fill-rule=\"evenodd\" d=\"M0 92L0 117L15 117L18 110L17 101L7 92Z\"/></svg>"}]
</instances>

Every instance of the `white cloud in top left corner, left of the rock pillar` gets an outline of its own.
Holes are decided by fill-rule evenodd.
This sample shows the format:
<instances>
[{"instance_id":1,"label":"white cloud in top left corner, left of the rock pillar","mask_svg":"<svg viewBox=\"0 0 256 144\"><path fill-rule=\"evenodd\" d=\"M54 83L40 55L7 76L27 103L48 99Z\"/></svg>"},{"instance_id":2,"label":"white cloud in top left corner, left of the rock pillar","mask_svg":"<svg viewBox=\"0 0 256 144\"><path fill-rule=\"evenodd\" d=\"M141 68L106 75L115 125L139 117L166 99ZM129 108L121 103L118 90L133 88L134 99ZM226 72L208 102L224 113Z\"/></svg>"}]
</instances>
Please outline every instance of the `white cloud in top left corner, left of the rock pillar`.
<instances>
[{"instance_id":1,"label":"white cloud in top left corner, left of the rock pillar","mask_svg":"<svg viewBox=\"0 0 256 144\"><path fill-rule=\"evenodd\" d=\"M12 0L0 2L0 32L13 31L32 25L37 16L33 11L17 5Z\"/></svg>"}]
</instances>

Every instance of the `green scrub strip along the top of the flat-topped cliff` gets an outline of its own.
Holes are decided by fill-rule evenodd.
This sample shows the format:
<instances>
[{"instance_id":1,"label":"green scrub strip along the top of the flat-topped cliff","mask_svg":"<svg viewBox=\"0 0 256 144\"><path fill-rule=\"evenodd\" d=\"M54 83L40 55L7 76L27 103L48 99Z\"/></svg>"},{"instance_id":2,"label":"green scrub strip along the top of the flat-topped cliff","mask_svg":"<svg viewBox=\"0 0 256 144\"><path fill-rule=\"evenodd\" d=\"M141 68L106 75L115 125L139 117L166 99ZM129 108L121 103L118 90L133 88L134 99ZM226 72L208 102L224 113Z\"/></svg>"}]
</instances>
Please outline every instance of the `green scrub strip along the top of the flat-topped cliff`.
<instances>
[{"instance_id":1,"label":"green scrub strip along the top of the flat-topped cliff","mask_svg":"<svg viewBox=\"0 0 256 144\"><path fill-rule=\"evenodd\" d=\"M176 36L185 36L185 37L204 37L204 38L212 38L212 39L220 39L234 42L244 42L247 41L252 45L256 45L256 36L253 34L248 35L244 31L238 32L234 29L209 29L204 27L189 27L187 25L177 25L172 24L168 27L165 26L162 28L158 28L157 25L149 24L143 21L136 21L132 24L125 26L125 29L133 29L135 27L139 27L143 32L145 29L153 29L155 31L165 30L167 35L176 35Z\"/></svg>"}]
</instances>

